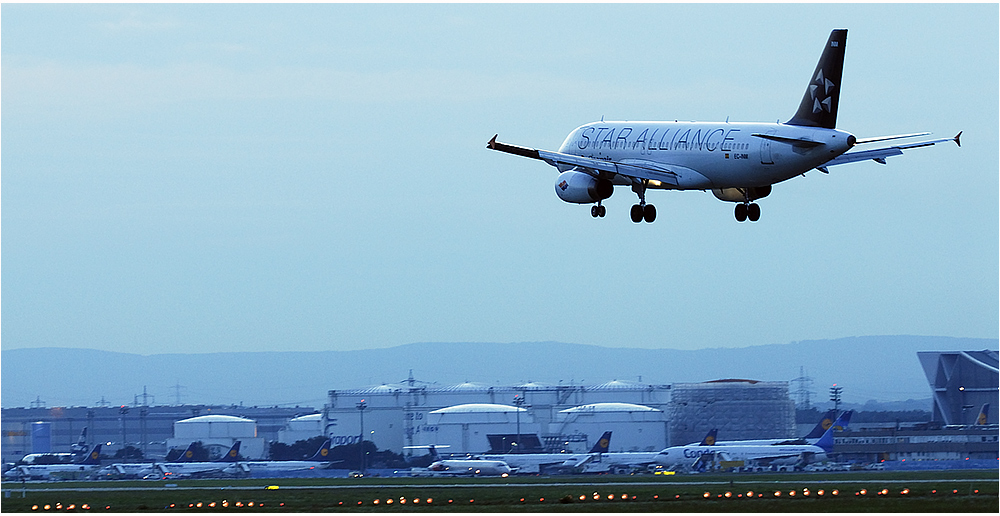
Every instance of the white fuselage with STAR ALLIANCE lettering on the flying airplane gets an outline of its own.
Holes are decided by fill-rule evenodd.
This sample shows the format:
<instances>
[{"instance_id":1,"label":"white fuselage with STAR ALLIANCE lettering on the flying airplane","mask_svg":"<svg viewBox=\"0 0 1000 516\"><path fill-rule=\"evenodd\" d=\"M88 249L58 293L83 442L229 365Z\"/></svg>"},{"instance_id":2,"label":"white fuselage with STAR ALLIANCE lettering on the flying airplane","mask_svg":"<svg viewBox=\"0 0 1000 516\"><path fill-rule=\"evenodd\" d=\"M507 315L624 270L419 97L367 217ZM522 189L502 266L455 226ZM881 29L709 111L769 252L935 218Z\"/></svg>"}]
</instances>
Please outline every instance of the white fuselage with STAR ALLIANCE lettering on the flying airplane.
<instances>
[{"instance_id":1,"label":"white fuselage with STAR ALLIANCE lettering on the flying airplane","mask_svg":"<svg viewBox=\"0 0 1000 516\"><path fill-rule=\"evenodd\" d=\"M574 129L559 152L662 168L650 188L707 190L779 183L843 154L853 142L837 129L780 123L593 122Z\"/></svg>"}]
</instances>

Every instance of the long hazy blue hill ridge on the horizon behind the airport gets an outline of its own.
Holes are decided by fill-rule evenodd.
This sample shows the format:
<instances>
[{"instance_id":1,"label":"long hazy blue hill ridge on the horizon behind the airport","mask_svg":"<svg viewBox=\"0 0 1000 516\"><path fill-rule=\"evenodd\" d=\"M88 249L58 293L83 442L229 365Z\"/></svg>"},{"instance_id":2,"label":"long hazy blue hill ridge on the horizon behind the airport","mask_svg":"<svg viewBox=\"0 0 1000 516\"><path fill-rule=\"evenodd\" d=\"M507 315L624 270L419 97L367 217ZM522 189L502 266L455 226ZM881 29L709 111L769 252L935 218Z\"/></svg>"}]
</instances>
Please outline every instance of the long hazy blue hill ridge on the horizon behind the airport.
<instances>
[{"instance_id":1,"label":"long hazy blue hill ridge on the horizon behind the airport","mask_svg":"<svg viewBox=\"0 0 1000 516\"><path fill-rule=\"evenodd\" d=\"M925 400L931 393L917 351L997 349L998 339L848 337L745 348L606 348L560 342L417 343L364 351L136 355L91 349L25 348L0 352L3 407L91 406L103 397L131 404L143 387L158 405L181 403L322 407L330 389L404 380L441 386L464 381L511 385L648 384L719 378L787 381L805 367L812 400L825 404L842 386L850 404ZM176 388L176 386L180 388ZM794 392L796 385L792 385ZM899 404L902 409L907 403ZM917 407L929 410L928 407Z\"/></svg>"}]
</instances>

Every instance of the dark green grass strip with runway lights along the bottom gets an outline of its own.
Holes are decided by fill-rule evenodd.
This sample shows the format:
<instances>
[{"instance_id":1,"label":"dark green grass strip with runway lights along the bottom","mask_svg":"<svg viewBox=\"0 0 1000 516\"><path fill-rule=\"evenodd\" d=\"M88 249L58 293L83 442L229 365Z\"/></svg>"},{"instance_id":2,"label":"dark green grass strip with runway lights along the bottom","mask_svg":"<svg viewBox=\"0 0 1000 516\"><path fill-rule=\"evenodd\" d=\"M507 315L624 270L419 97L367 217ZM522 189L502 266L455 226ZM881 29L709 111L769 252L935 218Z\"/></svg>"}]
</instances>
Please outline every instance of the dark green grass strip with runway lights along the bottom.
<instances>
[{"instance_id":1,"label":"dark green grass strip with runway lights along the bottom","mask_svg":"<svg viewBox=\"0 0 1000 516\"><path fill-rule=\"evenodd\" d=\"M693 484L688 484L693 482ZM997 472L4 483L4 512L988 512ZM409 484L426 487L402 487ZM559 484L559 485L541 485ZM264 489L277 485L278 489ZM102 488L108 491L84 491ZM805 495L804 488L809 494ZM56 490L59 489L59 490ZM68 489L63 491L63 489ZM824 494L819 495L822 489ZM839 494L834 496L836 489ZM866 494L855 494L862 489ZM887 494L879 494L881 490ZM908 489L907 494L901 491ZM792 496L790 491L794 490ZM978 490L978 492L976 492ZM747 496L749 491L753 497ZM780 491L780 495L776 495ZM936 492L933 492L936 491ZM957 491L957 492L956 492ZM730 496L726 497L725 494ZM595 493L597 499L595 499ZM705 493L709 493L708 497ZM609 499L609 495L612 497ZM624 498L623 498L624 495ZM720 497L720 495L722 495ZM583 497L583 500L580 497ZM431 503L427 502L430 498ZM393 503L387 504L387 499ZM400 503L405 499L406 503ZM415 499L419 500L415 502ZM523 501L522 501L523 499ZM379 500L378 505L374 503ZM223 507L223 501L226 507ZM201 503L189 507L189 504ZM209 504L214 502L214 507ZM253 503L251 507L249 504ZM359 504L360 502L360 504ZM236 504L239 503L238 507ZM57 509L61 504L61 509ZM90 509L82 509L88 504ZM171 507L173 504L173 507Z\"/></svg>"}]
</instances>

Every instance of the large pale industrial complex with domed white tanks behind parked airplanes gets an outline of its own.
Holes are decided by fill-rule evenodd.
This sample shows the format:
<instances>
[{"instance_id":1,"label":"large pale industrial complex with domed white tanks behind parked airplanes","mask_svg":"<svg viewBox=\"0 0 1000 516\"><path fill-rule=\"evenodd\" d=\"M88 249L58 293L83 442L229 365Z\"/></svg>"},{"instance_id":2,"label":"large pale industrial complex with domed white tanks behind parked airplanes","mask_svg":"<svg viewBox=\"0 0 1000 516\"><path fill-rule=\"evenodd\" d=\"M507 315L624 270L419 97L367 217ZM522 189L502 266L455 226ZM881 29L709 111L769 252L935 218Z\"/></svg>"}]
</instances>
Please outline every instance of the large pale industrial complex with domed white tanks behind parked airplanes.
<instances>
[{"instance_id":1,"label":"large pale industrial complex with domed white tanks behind parked airplanes","mask_svg":"<svg viewBox=\"0 0 1000 516\"><path fill-rule=\"evenodd\" d=\"M795 436L788 382L439 387L411 378L329 391L328 400L323 427L334 445L356 442L363 418L365 440L396 452L429 444L447 444L454 453L499 452L521 441L522 452L580 453L608 430L613 452L687 444L710 428L726 439Z\"/></svg>"}]
</instances>

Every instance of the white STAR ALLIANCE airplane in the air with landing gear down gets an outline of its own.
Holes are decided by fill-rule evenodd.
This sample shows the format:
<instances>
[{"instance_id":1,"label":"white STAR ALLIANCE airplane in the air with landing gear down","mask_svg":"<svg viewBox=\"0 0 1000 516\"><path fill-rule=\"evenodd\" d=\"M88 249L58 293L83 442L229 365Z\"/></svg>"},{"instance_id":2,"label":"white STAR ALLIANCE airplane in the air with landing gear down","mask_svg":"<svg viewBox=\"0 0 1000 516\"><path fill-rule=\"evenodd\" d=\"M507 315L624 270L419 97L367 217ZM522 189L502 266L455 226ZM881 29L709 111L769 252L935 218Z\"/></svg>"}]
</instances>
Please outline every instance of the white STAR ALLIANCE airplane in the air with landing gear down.
<instances>
[{"instance_id":1,"label":"white STAR ALLIANCE airplane in the air with landing gear down","mask_svg":"<svg viewBox=\"0 0 1000 516\"><path fill-rule=\"evenodd\" d=\"M604 217L602 202L615 186L628 186L639 202L632 222L656 219L656 208L646 203L646 191L711 190L721 201L736 204L736 220L760 218L756 200L767 197L773 185L813 169L856 161L886 158L904 150L954 141L926 140L870 150L848 152L857 145L925 136L930 133L858 138L836 128L847 30L830 33L798 110L785 123L730 122L592 122L577 127L558 151L539 150L497 141L487 148L544 161L555 167L556 195L565 202L594 204L593 217Z\"/></svg>"}]
</instances>

